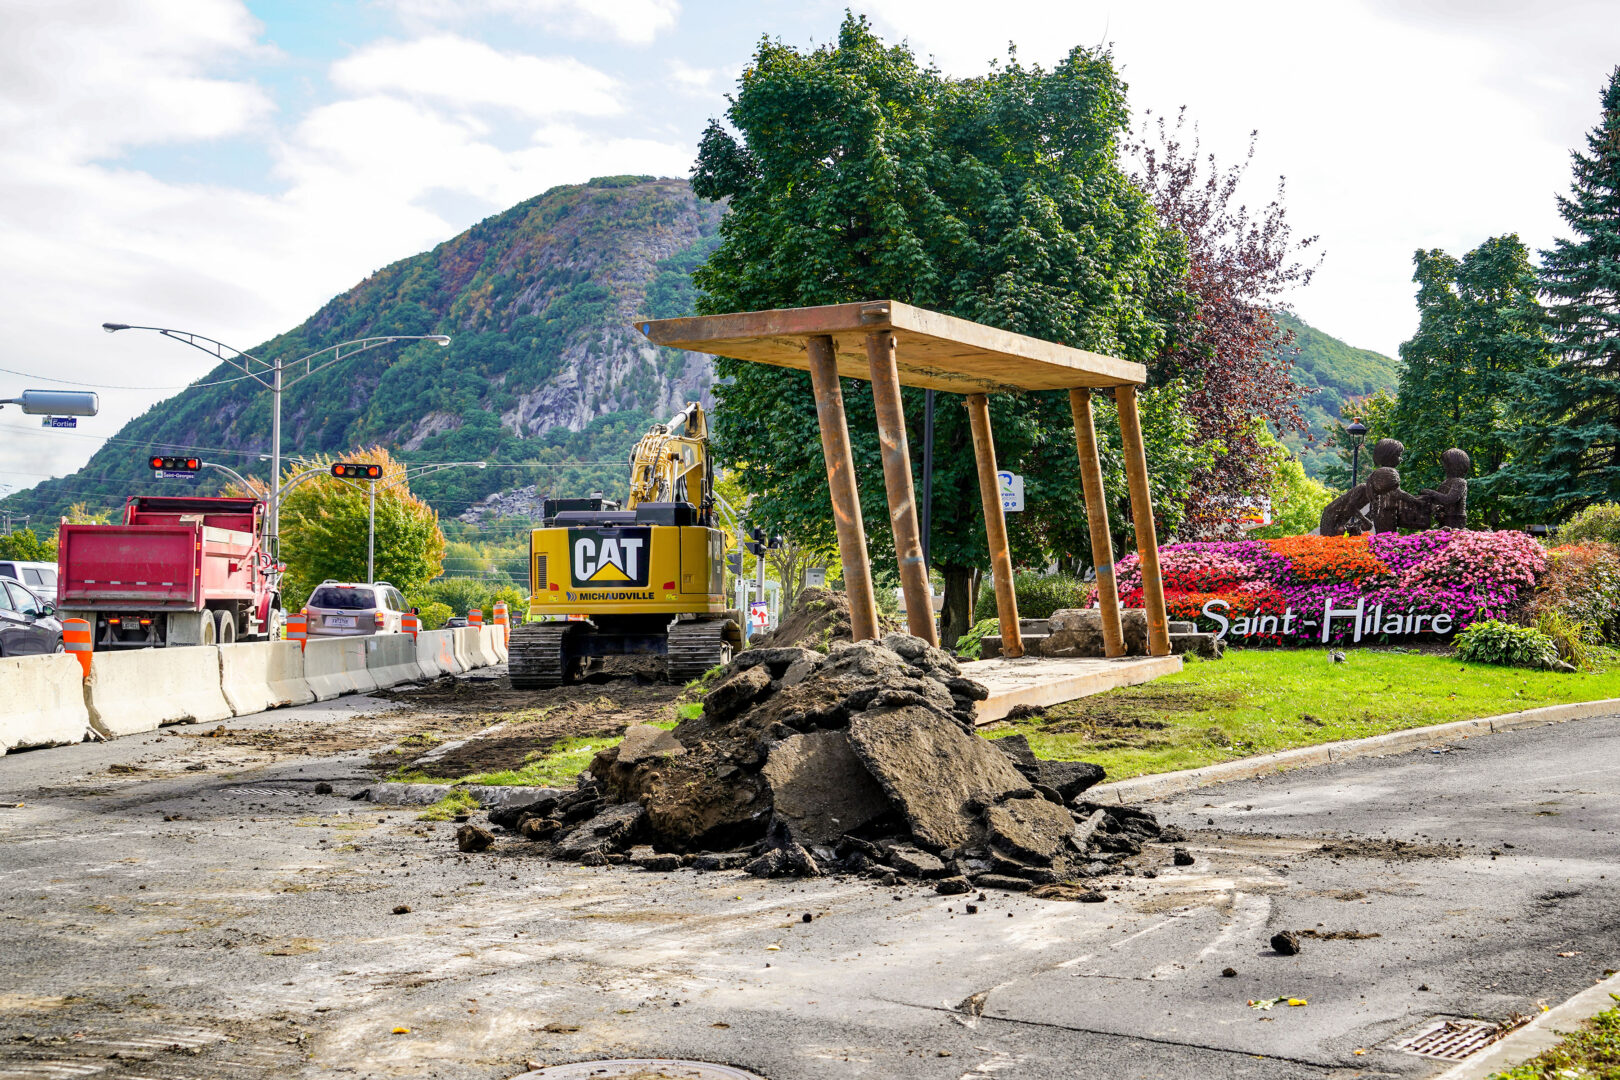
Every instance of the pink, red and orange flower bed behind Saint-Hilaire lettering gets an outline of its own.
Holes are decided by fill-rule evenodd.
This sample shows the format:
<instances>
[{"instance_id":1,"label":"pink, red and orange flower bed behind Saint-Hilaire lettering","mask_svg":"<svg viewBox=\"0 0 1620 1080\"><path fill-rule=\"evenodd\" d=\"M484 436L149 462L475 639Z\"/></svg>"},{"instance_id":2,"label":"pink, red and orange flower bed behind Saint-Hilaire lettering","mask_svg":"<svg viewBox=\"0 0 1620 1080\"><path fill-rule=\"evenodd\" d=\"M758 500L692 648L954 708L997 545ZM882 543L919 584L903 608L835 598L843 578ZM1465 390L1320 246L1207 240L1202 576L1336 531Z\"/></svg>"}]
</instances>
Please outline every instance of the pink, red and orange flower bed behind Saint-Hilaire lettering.
<instances>
[{"instance_id":1,"label":"pink, red and orange flower bed behind Saint-Hilaire lettering","mask_svg":"<svg viewBox=\"0 0 1620 1080\"><path fill-rule=\"evenodd\" d=\"M1173 619L1246 644L1320 644L1448 636L1502 619L1529 599L1547 555L1524 533L1432 529L1168 544L1160 570ZM1140 607L1137 555L1116 572L1121 602Z\"/></svg>"}]
</instances>

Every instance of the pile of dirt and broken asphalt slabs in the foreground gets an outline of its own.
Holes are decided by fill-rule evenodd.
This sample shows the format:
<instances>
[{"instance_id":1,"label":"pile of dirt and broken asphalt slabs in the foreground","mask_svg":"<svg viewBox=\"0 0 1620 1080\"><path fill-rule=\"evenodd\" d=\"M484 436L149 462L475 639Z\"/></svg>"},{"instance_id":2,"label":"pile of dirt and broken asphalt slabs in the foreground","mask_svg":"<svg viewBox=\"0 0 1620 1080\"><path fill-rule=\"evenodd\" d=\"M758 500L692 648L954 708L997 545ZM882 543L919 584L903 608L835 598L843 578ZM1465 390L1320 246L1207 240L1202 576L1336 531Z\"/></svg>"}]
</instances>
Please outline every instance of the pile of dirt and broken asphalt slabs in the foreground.
<instances>
[{"instance_id":1,"label":"pile of dirt and broken asphalt slabs in the foreground","mask_svg":"<svg viewBox=\"0 0 1620 1080\"><path fill-rule=\"evenodd\" d=\"M868 873L941 892L1102 876L1160 839L1150 813L1082 798L1100 767L980 738L985 696L948 653L899 633L826 654L750 649L701 716L632 727L573 792L489 819L588 865Z\"/></svg>"}]
</instances>

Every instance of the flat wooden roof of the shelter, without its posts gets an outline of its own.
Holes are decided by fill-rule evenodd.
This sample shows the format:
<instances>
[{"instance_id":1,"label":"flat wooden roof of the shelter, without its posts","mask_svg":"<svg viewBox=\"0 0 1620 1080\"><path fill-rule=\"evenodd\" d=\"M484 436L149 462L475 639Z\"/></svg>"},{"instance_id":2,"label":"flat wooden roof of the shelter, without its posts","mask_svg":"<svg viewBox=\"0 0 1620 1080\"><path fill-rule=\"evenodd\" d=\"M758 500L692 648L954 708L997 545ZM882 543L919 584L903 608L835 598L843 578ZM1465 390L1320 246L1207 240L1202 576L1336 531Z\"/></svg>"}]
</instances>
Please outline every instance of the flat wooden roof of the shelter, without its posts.
<instances>
[{"instance_id":1,"label":"flat wooden roof of the shelter, without its posts","mask_svg":"<svg viewBox=\"0 0 1620 1080\"><path fill-rule=\"evenodd\" d=\"M1147 369L1128 359L1055 345L893 300L821 308L778 308L635 324L654 345L810 369L807 340L826 335L838 351L838 374L870 379L867 334L896 338L901 384L951 393L1069 390L1147 382Z\"/></svg>"}]
</instances>

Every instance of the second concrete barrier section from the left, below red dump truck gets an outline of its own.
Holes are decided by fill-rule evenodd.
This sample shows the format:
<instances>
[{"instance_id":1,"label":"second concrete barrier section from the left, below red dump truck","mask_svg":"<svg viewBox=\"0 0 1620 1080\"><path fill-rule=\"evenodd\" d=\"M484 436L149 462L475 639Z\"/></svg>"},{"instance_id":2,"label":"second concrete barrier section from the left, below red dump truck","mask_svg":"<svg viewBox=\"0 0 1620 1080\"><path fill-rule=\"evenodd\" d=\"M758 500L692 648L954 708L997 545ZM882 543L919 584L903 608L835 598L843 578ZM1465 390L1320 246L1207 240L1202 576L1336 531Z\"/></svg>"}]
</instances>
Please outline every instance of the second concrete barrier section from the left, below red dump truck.
<instances>
[{"instance_id":1,"label":"second concrete barrier section from the left, below red dump truck","mask_svg":"<svg viewBox=\"0 0 1620 1080\"><path fill-rule=\"evenodd\" d=\"M96 653L84 703L91 727L107 738L156 732L164 724L230 717L220 688L219 646Z\"/></svg>"}]
</instances>

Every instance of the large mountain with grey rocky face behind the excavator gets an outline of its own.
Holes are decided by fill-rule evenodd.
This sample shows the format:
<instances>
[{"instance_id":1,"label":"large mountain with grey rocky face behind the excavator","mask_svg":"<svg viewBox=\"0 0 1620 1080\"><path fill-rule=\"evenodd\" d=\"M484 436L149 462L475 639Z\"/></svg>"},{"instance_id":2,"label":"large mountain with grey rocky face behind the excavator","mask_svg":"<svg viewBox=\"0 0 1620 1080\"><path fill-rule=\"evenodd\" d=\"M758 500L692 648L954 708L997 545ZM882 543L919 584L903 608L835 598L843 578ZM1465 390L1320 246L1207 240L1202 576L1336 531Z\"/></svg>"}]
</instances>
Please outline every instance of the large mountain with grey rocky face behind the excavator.
<instances>
[{"instance_id":1,"label":"large mountain with grey rocky face behind the excavator","mask_svg":"<svg viewBox=\"0 0 1620 1080\"><path fill-rule=\"evenodd\" d=\"M723 212L685 180L603 176L552 188L377 270L249 351L292 359L376 334L449 334L450 345L382 347L287 390L284 457L384 444L413 461L525 463L415 481L447 517L536 481L622 487L620 461L653 418L710 402L708 356L651 347L630 324L690 314L690 272L718 243ZM237 374L220 366L199 382ZM194 385L130 421L78 474L3 505L53 518L73 502L173 494L175 483L146 465L159 449L267 476L258 458L269 431L271 395L256 382ZM609 465L556 468L565 461ZM204 471L193 491L211 491L219 476Z\"/></svg>"}]
</instances>

